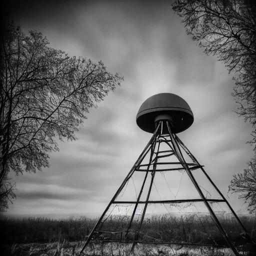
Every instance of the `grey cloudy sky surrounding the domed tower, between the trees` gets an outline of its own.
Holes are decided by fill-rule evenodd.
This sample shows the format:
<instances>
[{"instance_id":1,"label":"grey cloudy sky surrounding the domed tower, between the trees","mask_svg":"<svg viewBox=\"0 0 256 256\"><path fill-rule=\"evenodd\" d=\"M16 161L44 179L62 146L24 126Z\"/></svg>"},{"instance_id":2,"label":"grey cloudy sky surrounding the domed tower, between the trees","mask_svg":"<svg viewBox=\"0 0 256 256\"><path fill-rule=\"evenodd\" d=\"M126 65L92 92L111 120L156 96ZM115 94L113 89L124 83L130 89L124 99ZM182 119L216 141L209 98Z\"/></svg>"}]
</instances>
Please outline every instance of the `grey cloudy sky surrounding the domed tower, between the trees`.
<instances>
[{"instance_id":1,"label":"grey cloudy sky surrounding the domed tower, between the trees","mask_svg":"<svg viewBox=\"0 0 256 256\"><path fill-rule=\"evenodd\" d=\"M251 126L233 112L232 74L186 35L170 1L160 2L37 1L13 10L24 32L35 29L53 48L102 60L124 82L90 110L78 140L59 142L49 168L11 173L17 199L6 215L100 215L151 137L136 125L138 108L160 92L190 105L194 123L179 137L226 196L232 175L253 156L245 144ZM246 212L237 194L228 196L235 211Z\"/></svg>"}]
</instances>

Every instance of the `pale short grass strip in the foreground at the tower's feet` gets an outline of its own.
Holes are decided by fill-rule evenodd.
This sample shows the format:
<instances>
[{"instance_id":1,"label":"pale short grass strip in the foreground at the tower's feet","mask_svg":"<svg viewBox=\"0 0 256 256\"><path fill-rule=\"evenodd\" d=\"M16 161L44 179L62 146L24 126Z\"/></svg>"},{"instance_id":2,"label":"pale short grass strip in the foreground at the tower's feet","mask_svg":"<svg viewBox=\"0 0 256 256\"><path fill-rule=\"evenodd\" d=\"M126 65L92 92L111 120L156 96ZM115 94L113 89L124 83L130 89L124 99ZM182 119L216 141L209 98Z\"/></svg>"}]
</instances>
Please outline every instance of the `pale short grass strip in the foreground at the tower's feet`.
<instances>
[{"instance_id":1,"label":"pale short grass strip in the foreground at the tower's feet","mask_svg":"<svg viewBox=\"0 0 256 256\"><path fill-rule=\"evenodd\" d=\"M79 242L54 242L54 243L26 243L13 244L5 248L3 255L27 255L27 256L78 256L79 251L83 245L83 241ZM81 256L92 255L128 255L130 250L129 245L124 244L97 244L92 248L87 248ZM248 252L240 248L241 255L248 255ZM134 255L139 256L231 256L232 251L228 248L214 248L214 247L188 247L188 246L164 246L164 245L144 245L138 244L134 248Z\"/></svg>"}]
</instances>

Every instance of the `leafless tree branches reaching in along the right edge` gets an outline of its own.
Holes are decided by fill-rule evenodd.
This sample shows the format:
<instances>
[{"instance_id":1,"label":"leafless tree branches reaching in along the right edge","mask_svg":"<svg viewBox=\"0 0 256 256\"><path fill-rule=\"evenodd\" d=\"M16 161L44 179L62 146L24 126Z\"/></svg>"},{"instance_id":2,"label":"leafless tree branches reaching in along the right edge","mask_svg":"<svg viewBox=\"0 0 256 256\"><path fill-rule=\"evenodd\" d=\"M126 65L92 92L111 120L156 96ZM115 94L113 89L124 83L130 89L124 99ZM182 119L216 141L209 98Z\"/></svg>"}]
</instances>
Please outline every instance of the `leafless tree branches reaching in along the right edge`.
<instances>
[{"instance_id":1,"label":"leafless tree branches reaching in along the right edge","mask_svg":"<svg viewBox=\"0 0 256 256\"><path fill-rule=\"evenodd\" d=\"M187 34L204 48L204 52L216 55L218 60L225 63L228 71L234 73L232 95L237 103L237 113L252 124L253 138L248 142L254 145L256 153L255 1L175 0L172 9L182 18ZM248 166L244 174L234 175L229 189L242 193L241 198L250 201L250 212L256 212L256 155ZM251 193L247 196L248 192Z\"/></svg>"}]
</instances>

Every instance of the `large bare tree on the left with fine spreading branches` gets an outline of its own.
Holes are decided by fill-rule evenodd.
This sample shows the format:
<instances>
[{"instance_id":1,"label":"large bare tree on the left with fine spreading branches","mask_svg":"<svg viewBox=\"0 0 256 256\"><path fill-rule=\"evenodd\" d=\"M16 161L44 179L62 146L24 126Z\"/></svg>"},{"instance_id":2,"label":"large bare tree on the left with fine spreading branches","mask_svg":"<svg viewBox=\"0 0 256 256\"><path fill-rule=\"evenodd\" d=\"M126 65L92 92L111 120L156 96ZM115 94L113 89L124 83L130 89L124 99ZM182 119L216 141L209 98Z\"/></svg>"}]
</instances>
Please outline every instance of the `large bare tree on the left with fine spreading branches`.
<instances>
[{"instance_id":1,"label":"large bare tree on the left with fine spreading branches","mask_svg":"<svg viewBox=\"0 0 256 256\"><path fill-rule=\"evenodd\" d=\"M6 173L49 167L60 140L76 139L89 108L96 107L123 77L83 57L48 46L40 32L25 35L6 21L0 76L0 187ZM5 191L3 191L5 190Z\"/></svg>"}]
</instances>

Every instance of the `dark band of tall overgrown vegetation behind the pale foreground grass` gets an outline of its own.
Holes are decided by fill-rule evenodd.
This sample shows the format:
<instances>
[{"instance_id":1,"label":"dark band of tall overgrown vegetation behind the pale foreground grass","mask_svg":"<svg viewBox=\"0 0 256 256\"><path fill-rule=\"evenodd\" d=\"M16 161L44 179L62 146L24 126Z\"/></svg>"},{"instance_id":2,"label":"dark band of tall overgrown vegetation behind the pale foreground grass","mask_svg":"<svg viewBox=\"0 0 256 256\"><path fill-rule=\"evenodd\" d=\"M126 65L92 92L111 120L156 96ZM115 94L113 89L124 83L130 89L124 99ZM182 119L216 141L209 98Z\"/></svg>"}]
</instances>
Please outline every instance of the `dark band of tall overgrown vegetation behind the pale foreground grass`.
<instances>
[{"instance_id":1,"label":"dark band of tall overgrown vegetation behind the pale foreground grass","mask_svg":"<svg viewBox=\"0 0 256 256\"><path fill-rule=\"evenodd\" d=\"M238 238L240 229L237 222L232 217L220 218L223 227L230 230L230 238L236 245L245 241L242 237ZM253 239L256 239L255 219L253 217L241 217L245 228L247 228ZM86 217L69 219L49 219L49 218L19 218L6 219L2 223L2 234L5 244L13 243L34 243L34 242L57 242L57 241L81 241L85 240L86 235L92 229L96 219ZM255 223L256 225L256 223ZM123 230L121 218L108 219L104 222L101 230ZM143 240L153 237L155 241L176 241L176 242L196 242L205 244L225 244L223 237L215 228L215 224L208 216L189 215L174 216L162 215L152 216L145 219L141 232ZM104 234L107 239L119 240L119 233Z\"/></svg>"}]
</instances>

